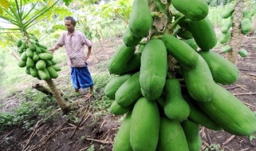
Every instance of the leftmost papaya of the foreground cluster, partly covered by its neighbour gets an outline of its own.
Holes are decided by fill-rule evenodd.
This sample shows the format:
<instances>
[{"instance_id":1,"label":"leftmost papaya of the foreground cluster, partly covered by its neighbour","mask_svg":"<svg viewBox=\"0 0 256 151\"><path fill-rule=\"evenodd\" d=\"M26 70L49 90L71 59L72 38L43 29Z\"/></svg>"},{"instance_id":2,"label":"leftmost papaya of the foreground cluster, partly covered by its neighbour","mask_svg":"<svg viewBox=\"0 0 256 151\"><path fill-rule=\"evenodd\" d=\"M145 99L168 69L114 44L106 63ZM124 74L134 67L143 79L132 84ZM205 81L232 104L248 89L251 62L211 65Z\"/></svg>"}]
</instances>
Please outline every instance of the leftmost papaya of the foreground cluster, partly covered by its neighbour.
<instances>
[{"instance_id":1,"label":"leftmost papaya of the foreground cluster, partly covered by its neighbour","mask_svg":"<svg viewBox=\"0 0 256 151\"><path fill-rule=\"evenodd\" d=\"M119 75L113 78L112 80L110 80L110 82L108 82L107 85L105 86L105 89L104 89L105 95L111 100L115 100L116 91L118 90L118 88L120 88L120 86L124 82L126 82L128 78L130 78L130 76L131 74L124 74L124 75Z\"/></svg>"}]
</instances>

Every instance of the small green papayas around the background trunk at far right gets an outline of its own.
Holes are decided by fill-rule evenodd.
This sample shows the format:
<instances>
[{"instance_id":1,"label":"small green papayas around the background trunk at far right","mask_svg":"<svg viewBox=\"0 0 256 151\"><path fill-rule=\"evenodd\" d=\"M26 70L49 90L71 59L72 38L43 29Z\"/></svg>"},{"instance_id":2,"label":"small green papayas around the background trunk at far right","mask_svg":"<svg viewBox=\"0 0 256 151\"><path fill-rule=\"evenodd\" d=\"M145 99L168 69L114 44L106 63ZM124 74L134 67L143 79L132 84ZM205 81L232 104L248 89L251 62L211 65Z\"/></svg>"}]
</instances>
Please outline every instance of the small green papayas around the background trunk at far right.
<instances>
[{"instance_id":1,"label":"small green papayas around the background trunk at far right","mask_svg":"<svg viewBox=\"0 0 256 151\"><path fill-rule=\"evenodd\" d=\"M227 53L231 51L231 45L228 44L231 39L231 27L233 25L233 12L235 10L235 5L231 5L228 7L222 14L221 18L226 19L225 24L221 27L221 38L220 43L226 44L224 48L221 49L221 53ZM252 16L256 13L255 10L243 10L243 18L241 21L241 33L246 35L252 30ZM248 55L247 50L240 49L238 54L242 57L246 57Z\"/></svg>"}]
</instances>

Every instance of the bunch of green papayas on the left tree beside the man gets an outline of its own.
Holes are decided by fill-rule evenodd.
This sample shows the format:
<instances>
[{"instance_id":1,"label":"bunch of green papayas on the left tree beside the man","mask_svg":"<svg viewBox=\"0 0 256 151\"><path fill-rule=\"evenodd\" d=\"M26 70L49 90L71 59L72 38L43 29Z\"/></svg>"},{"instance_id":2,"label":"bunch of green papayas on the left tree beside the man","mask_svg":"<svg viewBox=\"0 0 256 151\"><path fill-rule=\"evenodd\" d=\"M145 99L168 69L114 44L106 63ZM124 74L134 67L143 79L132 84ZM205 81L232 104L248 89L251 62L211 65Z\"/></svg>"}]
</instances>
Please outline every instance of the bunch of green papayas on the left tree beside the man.
<instances>
[{"instance_id":1,"label":"bunch of green papayas on the left tree beside the man","mask_svg":"<svg viewBox=\"0 0 256 151\"><path fill-rule=\"evenodd\" d=\"M56 79L61 68L56 65L53 55L39 40L30 35L28 40L17 40L18 53L20 54L19 67L26 68L25 72L39 80Z\"/></svg>"}]
</instances>

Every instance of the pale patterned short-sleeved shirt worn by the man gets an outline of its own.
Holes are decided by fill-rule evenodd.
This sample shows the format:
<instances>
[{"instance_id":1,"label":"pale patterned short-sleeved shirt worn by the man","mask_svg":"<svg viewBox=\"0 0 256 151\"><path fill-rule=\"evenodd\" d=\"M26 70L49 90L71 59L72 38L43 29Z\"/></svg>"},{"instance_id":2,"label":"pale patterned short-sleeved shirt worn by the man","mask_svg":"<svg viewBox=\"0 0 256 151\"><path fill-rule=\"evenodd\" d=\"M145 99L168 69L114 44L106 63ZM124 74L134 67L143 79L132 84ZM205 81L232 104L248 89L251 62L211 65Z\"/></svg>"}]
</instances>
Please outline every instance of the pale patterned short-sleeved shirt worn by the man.
<instances>
[{"instance_id":1,"label":"pale patterned short-sleeved shirt worn by the man","mask_svg":"<svg viewBox=\"0 0 256 151\"><path fill-rule=\"evenodd\" d=\"M68 35L68 32L63 32L61 34L61 37L59 37L59 40L57 42L57 45L59 47L63 47L65 45L66 53L67 53L67 60L68 65L70 67L74 67L72 65L70 58L72 57L83 57L84 56L84 45L87 45L87 47L91 47L92 43L89 39L87 39L83 33L79 31L74 31L72 34Z\"/></svg>"}]
</instances>

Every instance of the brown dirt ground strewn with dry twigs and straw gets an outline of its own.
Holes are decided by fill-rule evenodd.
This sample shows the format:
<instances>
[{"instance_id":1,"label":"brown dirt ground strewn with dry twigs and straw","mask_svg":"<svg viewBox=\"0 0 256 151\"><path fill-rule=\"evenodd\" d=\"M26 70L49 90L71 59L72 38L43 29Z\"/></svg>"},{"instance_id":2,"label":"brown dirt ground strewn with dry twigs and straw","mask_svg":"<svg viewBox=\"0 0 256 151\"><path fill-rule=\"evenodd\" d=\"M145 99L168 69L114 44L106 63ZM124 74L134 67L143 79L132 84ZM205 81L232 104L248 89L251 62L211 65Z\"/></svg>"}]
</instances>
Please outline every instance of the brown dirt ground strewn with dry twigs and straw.
<instances>
[{"instance_id":1,"label":"brown dirt ground strewn with dry twigs and straw","mask_svg":"<svg viewBox=\"0 0 256 151\"><path fill-rule=\"evenodd\" d=\"M99 43L95 44L97 60L91 58L88 61L92 73L106 71L106 61L122 43L122 39L103 40L101 43L104 49L101 49ZM256 37L244 36L243 47L248 51L248 56L237 59L240 77L236 83L225 88L255 112ZM218 49L214 51L219 52ZM83 97L73 99L77 102L84 100ZM96 116L94 109L89 107L94 100L92 97L83 104L75 104L79 115L78 123L63 118L61 111L56 110L53 112L56 115L54 121L44 123L38 118L32 131L24 132L20 127L0 131L0 150L112 150L121 117L112 114ZM256 150L256 138L250 141L248 136L233 136L224 131L212 131L204 127L201 127L200 135L203 139L201 150ZM217 147L213 144L217 144Z\"/></svg>"}]
</instances>

